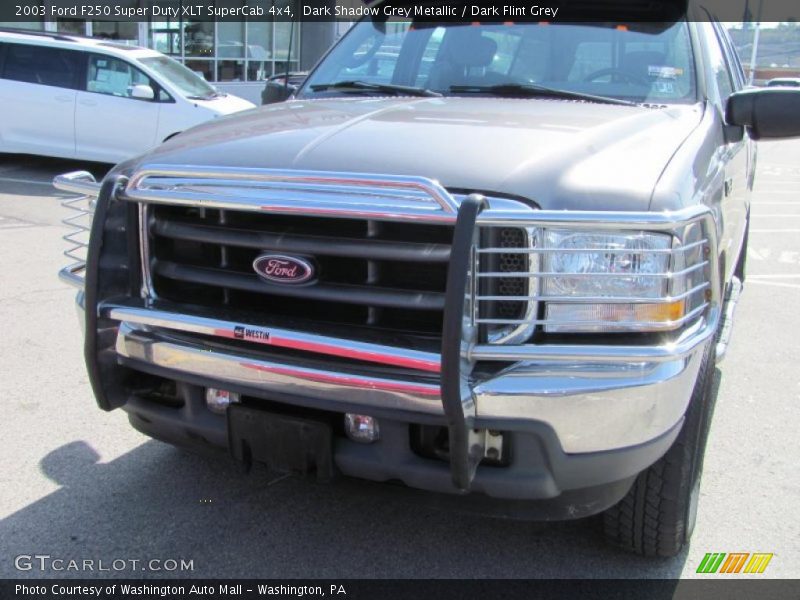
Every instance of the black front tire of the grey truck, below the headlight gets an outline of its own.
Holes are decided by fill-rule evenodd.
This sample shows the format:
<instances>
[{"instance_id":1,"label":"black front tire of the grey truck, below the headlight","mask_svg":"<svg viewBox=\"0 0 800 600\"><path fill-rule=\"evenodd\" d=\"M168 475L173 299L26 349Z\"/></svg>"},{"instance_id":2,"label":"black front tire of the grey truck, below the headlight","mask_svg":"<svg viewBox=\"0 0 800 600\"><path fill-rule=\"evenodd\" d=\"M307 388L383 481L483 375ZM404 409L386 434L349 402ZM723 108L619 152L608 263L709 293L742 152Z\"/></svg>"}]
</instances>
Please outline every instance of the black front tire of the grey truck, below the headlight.
<instances>
[{"instance_id":1,"label":"black front tire of the grey truck, below the headlight","mask_svg":"<svg viewBox=\"0 0 800 600\"><path fill-rule=\"evenodd\" d=\"M619 504L603 513L609 543L642 556L668 557L678 554L691 538L714 411L715 351L716 344L708 344L675 443L639 474Z\"/></svg>"}]
</instances>

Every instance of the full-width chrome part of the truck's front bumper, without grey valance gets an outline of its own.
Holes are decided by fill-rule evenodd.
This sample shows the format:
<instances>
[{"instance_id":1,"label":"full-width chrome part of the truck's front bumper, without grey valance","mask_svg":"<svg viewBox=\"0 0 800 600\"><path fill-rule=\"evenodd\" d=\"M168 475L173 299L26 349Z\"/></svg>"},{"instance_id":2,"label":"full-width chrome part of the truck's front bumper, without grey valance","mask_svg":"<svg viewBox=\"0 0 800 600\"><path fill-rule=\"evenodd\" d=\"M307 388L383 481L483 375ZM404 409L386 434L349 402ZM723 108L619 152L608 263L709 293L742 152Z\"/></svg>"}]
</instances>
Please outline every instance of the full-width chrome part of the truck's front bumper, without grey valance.
<instances>
[{"instance_id":1,"label":"full-width chrome part of the truck's front bumper, without grey valance","mask_svg":"<svg viewBox=\"0 0 800 600\"><path fill-rule=\"evenodd\" d=\"M336 410L354 407L373 414L394 411L409 415L444 417L438 382L430 376L397 380L298 367L289 362L264 360L234 350L212 349L201 341L181 339L180 333L234 337L235 323L208 317L171 313L144 306L109 305L105 317L121 322L116 351L132 366L153 366L180 379L200 377L265 394L291 397ZM271 347L311 347L324 350L323 336L271 330ZM653 354L650 360L636 352L619 353L613 360L602 349L591 354L550 347L563 360L525 361L496 376L475 379L470 391L477 422L545 423L569 454L602 452L635 446L672 429L683 417L691 397L705 344L710 334L697 331L686 343L671 348L670 358ZM274 342L271 343L271 342ZM341 340L340 340L341 342ZM337 347L339 356L367 353L380 360L387 348L368 344ZM331 346L330 351L334 348ZM404 358L430 365L436 355L410 352Z\"/></svg>"}]
</instances>

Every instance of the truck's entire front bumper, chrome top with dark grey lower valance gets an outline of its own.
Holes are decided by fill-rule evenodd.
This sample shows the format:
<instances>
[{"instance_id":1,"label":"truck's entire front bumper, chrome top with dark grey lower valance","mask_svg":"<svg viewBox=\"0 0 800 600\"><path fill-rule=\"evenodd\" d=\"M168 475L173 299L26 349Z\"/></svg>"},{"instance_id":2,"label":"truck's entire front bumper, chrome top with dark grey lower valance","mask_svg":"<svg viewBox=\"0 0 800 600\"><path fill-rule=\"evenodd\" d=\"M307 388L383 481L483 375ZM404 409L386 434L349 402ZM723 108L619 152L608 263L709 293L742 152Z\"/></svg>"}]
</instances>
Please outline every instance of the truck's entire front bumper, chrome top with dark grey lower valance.
<instances>
[{"instance_id":1,"label":"truck's entire front bumper, chrome top with dark grey lower valance","mask_svg":"<svg viewBox=\"0 0 800 600\"><path fill-rule=\"evenodd\" d=\"M232 324L164 308L128 303L102 309L120 323L120 366L178 382L184 400L173 408L132 393L114 399L140 431L180 445L226 449L226 420L206 408L206 387L294 407L366 413L380 420L381 439L361 445L336 438L333 458L342 474L457 492L449 465L419 456L409 443L412 424L447 424L436 375L398 382L215 348L192 330L226 338ZM474 382L474 426L502 431L511 461L479 466L470 490L541 501L531 515L536 518L577 518L612 506L680 432L704 349L698 341L683 349L686 354L650 362L523 362Z\"/></svg>"}]
</instances>

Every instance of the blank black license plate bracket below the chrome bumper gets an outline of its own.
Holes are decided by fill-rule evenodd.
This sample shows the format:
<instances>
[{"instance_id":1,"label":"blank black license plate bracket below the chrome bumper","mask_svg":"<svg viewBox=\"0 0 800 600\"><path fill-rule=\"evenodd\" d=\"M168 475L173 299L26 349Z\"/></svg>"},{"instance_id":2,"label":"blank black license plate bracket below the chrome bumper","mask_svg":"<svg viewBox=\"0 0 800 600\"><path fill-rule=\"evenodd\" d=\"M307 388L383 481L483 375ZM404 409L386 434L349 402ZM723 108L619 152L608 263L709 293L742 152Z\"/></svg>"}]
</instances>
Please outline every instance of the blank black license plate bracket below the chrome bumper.
<instances>
[{"instance_id":1,"label":"blank black license plate bracket below the chrome bumper","mask_svg":"<svg viewBox=\"0 0 800 600\"><path fill-rule=\"evenodd\" d=\"M334 477L333 430L330 424L232 404L228 407L228 444L245 465L265 463L275 471Z\"/></svg>"}]
</instances>

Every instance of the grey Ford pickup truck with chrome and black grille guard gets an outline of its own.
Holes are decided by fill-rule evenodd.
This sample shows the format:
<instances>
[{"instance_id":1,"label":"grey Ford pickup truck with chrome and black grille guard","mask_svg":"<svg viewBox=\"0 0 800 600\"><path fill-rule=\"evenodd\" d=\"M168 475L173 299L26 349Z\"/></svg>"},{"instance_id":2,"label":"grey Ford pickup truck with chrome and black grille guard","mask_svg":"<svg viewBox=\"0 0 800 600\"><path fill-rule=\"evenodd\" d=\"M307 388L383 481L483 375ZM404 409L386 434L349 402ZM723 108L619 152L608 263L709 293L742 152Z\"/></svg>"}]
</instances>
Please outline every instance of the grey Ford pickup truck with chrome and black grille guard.
<instances>
[{"instance_id":1,"label":"grey Ford pickup truck with chrome and black grille guard","mask_svg":"<svg viewBox=\"0 0 800 600\"><path fill-rule=\"evenodd\" d=\"M62 277L97 403L323 481L603 513L612 543L674 555L744 281L754 140L800 136L799 107L746 88L699 7L367 17L287 101L101 183L56 179L83 195Z\"/></svg>"}]
</instances>

